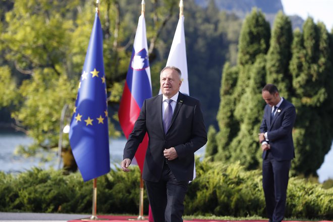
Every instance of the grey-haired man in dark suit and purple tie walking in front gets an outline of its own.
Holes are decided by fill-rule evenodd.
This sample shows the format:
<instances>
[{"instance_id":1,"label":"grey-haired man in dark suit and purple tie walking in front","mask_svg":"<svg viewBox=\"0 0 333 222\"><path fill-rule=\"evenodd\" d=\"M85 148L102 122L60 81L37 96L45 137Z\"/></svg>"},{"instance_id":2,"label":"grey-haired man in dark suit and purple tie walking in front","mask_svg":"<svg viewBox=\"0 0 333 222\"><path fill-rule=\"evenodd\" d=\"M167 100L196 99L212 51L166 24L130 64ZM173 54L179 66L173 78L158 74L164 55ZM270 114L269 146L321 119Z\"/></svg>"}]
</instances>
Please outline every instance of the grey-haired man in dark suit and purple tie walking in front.
<instances>
[{"instance_id":1,"label":"grey-haired man in dark suit and purple tie walking in front","mask_svg":"<svg viewBox=\"0 0 333 222\"><path fill-rule=\"evenodd\" d=\"M207 142L200 103L179 92L181 71L165 67L160 73L162 94L146 99L124 148L123 171L146 132L149 144L143 165L148 199L155 222L183 221L184 198L193 179L194 152Z\"/></svg>"}]
</instances>

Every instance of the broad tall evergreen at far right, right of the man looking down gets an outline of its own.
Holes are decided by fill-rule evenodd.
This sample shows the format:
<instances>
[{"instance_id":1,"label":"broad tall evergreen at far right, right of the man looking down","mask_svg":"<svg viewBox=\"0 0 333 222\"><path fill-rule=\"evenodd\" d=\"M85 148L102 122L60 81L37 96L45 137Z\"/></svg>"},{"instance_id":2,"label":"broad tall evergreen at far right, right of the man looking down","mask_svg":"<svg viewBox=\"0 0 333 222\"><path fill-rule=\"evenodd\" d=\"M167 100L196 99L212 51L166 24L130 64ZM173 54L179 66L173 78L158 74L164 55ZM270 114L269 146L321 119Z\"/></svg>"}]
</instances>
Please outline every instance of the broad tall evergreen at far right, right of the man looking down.
<instances>
[{"instance_id":1,"label":"broad tall evergreen at far right, right of the man looking down","mask_svg":"<svg viewBox=\"0 0 333 222\"><path fill-rule=\"evenodd\" d=\"M290 71L295 90L293 102L297 108L295 170L308 176L316 175L330 149L332 117L328 115L331 106L327 102L330 101L327 82L332 81L333 70L325 26L322 23L316 25L312 18L308 18L303 30L303 38L295 33Z\"/></svg>"}]
</instances>

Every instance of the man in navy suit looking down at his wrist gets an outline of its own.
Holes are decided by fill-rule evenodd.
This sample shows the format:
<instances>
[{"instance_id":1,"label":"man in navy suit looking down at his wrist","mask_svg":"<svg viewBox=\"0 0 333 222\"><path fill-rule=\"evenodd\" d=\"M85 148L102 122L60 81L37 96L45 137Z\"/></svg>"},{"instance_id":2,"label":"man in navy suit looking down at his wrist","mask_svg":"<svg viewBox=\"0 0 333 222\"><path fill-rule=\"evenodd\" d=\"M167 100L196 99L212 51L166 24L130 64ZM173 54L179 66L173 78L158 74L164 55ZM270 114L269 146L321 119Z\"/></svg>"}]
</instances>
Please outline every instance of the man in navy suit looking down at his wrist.
<instances>
[{"instance_id":1,"label":"man in navy suit looking down at his wrist","mask_svg":"<svg viewBox=\"0 0 333 222\"><path fill-rule=\"evenodd\" d=\"M265 85L261 94L267 103L259 134L263 150L262 185L267 216L275 222L282 221L285 214L289 170L295 157L292 129L296 110L280 97L275 85Z\"/></svg>"}]
</instances>

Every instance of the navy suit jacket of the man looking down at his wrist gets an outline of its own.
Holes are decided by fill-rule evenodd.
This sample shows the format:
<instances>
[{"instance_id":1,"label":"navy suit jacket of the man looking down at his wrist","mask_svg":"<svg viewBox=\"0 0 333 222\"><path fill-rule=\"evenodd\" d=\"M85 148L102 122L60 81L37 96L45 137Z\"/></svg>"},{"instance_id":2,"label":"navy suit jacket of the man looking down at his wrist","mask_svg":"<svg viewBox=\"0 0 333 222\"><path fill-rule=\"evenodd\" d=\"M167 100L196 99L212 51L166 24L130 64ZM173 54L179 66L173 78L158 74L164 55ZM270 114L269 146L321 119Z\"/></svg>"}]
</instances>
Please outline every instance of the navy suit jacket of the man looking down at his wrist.
<instances>
[{"instance_id":1,"label":"navy suit jacket of the man looking down at his wrist","mask_svg":"<svg viewBox=\"0 0 333 222\"><path fill-rule=\"evenodd\" d=\"M296 120L295 106L284 99L270 121L272 107L266 104L260 132L267 132L270 152L276 160L290 160L295 157L292 130ZM266 150L262 158L266 157Z\"/></svg>"}]
</instances>

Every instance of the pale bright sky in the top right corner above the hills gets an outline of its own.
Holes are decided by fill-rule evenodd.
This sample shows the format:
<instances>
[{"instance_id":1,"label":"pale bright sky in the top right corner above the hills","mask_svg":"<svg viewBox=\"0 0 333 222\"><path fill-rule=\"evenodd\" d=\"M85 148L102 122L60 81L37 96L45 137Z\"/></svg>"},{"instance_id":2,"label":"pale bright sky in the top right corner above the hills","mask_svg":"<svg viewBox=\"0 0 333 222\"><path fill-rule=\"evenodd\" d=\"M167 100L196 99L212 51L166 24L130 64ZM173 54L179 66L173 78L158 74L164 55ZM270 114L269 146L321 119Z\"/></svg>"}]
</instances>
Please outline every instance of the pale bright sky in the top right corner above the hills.
<instances>
[{"instance_id":1,"label":"pale bright sky in the top right corner above the hills","mask_svg":"<svg viewBox=\"0 0 333 222\"><path fill-rule=\"evenodd\" d=\"M298 15L302 19L312 17L314 22L323 22L328 31L333 26L333 0L282 0L286 15Z\"/></svg>"}]
</instances>

